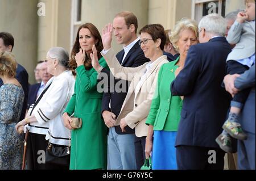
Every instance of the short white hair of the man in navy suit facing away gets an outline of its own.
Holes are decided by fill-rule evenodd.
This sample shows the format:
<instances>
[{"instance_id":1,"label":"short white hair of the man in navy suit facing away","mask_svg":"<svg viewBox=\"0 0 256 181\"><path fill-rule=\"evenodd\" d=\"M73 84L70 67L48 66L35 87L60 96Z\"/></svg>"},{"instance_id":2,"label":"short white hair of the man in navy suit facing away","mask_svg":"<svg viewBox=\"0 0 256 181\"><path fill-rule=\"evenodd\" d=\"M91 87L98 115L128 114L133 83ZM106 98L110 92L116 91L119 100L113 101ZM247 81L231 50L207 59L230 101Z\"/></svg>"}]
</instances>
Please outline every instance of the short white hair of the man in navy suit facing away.
<instances>
[{"instance_id":1,"label":"short white hair of the man in navy suit facing away","mask_svg":"<svg viewBox=\"0 0 256 181\"><path fill-rule=\"evenodd\" d=\"M213 36L224 36L226 32L226 20L218 14L204 16L199 23L199 30L204 28L206 32Z\"/></svg>"}]
</instances>

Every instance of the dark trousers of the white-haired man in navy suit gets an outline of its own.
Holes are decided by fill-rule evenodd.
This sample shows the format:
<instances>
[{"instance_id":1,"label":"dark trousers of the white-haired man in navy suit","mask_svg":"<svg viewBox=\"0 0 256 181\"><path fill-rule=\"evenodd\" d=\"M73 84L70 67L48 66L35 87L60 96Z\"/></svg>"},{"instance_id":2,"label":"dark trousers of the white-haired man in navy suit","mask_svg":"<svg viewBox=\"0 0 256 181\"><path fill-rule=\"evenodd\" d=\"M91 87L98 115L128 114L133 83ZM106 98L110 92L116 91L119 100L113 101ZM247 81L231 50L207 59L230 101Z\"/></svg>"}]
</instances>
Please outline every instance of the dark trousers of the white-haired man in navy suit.
<instances>
[{"instance_id":1,"label":"dark trousers of the white-haired man in navy suit","mask_svg":"<svg viewBox=\"0 0 256 181\"><path fill-rule=\"evenodd\" d=\"M225 152L221 149L200 146L177 146L179 170L223 170Z\"/></svg>"}]
</instances>

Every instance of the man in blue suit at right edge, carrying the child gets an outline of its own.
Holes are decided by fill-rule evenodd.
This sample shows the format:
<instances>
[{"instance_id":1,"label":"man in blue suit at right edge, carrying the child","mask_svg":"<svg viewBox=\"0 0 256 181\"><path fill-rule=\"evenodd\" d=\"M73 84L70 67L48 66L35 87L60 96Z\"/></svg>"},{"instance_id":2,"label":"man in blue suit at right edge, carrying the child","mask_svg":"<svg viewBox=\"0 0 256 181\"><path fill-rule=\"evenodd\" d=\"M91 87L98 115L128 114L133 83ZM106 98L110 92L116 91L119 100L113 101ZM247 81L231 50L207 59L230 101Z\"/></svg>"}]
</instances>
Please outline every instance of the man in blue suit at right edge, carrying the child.
<instances>
[{"instance_id":1,"label":"man in blue suit at right edge, carrying the child","mask_svg":"<svg viewBox=\"0 0 256 181\"><path fill-rule=\"evenodd\" d=\"M234 95L239 90L251 88L240 116L240 124L247 134L247 140L238 140L238 169L255 170L255 64L238 77L226 75L226 90Z\"/></svg>"}]
</instances>

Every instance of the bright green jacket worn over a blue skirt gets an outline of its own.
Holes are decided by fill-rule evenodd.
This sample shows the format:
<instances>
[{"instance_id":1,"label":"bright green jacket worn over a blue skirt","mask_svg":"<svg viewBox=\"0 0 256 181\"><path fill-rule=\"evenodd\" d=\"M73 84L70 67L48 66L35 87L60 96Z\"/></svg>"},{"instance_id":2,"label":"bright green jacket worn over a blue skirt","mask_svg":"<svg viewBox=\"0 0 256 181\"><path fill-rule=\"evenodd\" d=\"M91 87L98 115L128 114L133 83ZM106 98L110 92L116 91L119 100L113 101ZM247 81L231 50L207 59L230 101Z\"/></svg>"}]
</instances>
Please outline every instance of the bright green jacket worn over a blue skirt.
<instances>
[{"instance_id":1,"label":"bright green jacket worn over a blue skirt","mask_svg":"<svg viewBox=\"0 0 256 181\"><path fill-rule=\"evenodd\" d=\"M156 131L177 131L179 125L182 100L180 96L172 96L170 90L178 60L164 64L159 70L158 85L146 120Z\"/></svg>"}]
</instances>

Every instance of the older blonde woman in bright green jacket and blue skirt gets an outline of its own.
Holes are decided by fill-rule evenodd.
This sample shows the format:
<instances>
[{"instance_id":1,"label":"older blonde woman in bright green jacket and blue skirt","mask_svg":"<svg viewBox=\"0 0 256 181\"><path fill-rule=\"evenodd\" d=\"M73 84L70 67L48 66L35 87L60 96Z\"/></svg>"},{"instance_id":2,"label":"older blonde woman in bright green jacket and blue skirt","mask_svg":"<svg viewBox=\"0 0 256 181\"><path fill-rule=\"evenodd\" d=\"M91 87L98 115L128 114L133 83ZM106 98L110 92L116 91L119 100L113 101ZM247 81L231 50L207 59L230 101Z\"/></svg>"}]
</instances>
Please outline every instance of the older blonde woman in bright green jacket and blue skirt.
<instances>
[{"instance_id":1,"label":"older blonde woman in bright green jacket and blue skirt","mask_svg":"<svg viewBox=\"0 0 256 181\"><path fill-rule=\"evenodd\" d=\"M177 22L171 32L171 42L180 53L180 57L162 65L159 70L158 85L146 120L149 127L145 152L148 158L152 151L152 169L154 170L177 169L175 140L182 99L180 96L171 95L170 85L183 69L189 47L198 43L196 22L186 18Z\"/></svg>"}]
</instances>

